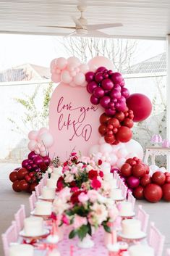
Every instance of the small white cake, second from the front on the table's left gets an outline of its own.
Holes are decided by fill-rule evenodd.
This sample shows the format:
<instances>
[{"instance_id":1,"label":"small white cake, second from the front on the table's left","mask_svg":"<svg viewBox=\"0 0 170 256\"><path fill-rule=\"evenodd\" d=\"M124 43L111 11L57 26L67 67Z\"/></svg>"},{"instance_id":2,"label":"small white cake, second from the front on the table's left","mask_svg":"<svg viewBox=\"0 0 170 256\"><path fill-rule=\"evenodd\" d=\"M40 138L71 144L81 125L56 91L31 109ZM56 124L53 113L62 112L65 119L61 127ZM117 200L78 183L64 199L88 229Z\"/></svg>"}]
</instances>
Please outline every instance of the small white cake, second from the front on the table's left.
<instances>
[{"instance_id":1,"label":"small white cake, second from the front on the table's left","mask_svg":"<svg viewBox=\"0 0 170 256\"><path fill-rule=\"evenodd\" d=\"M25 236L41 236L43 234L43 218L29 217L24 220Z\"/></svg>"}]
</instances>

